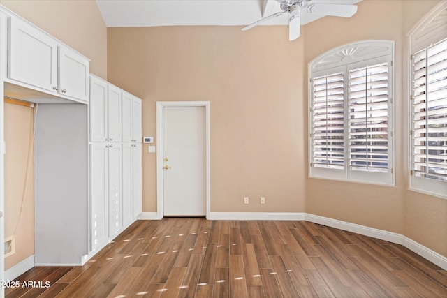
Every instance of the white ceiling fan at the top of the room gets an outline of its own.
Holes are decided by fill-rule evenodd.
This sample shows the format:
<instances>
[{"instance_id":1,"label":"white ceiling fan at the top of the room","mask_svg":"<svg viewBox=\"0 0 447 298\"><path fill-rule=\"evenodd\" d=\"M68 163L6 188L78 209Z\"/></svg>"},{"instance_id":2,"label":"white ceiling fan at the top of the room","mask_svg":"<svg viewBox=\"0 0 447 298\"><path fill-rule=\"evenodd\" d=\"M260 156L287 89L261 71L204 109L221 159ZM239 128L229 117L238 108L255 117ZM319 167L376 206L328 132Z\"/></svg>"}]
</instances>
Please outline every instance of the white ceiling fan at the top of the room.
<instances>
[{"instance_id":1,"label":"white ceiling fan at the top of the room","mask_svg":"<svg viewBox=\"0 0 447 298\"><path fill-rule=\"evenodd\" d=\"M249 24L247 27L242 28L242 31L249 30L267 20L288 13L288 40L295 40L300 37L300 15L303 10L315 15L333 15L335 17L352 17L357 12L357 6L351 4L318 3L314 2L314 0L276 1L279 3L281 11Z\"/></svg>"}]
</instances>

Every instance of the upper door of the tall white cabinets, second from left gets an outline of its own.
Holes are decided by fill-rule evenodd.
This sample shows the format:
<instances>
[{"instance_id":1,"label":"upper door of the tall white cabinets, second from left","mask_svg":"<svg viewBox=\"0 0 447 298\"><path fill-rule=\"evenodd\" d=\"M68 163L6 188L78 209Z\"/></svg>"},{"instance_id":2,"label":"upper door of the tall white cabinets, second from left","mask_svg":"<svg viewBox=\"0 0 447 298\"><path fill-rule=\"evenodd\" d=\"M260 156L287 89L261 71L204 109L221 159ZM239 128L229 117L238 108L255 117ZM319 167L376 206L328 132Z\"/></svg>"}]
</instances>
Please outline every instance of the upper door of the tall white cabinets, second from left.
<instances>
[{"instance_id":1,"label":"upper door of the tall white cabinets, second from left","mask_svg":"<svg viewBox=\"0 0 447 298\"><path fill-rule=\"evenodd\" d=\"M108 86L108 139L121 142L121 89Z\"/></svg>"}]
</instances>

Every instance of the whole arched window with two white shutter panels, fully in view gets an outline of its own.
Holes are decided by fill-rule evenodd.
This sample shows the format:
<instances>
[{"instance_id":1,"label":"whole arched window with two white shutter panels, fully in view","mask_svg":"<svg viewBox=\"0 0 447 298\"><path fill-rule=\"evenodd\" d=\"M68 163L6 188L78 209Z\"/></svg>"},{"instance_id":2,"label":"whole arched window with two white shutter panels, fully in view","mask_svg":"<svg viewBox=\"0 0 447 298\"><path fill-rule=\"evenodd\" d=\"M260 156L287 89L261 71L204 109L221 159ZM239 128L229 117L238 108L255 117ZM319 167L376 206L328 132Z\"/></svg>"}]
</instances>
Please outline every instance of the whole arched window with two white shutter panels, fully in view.
<instances>
[{"instance_id":1,"label":"whole arched window with two white shutter panels, fully in view","mask_svg":"<svg viewBox=\"0 0 447 298\"><path fill-rule=\"evenodd\" d=\"M394 183L393 49L366 40L309 64L310 177Z\"/></svg>"}]
</instances>

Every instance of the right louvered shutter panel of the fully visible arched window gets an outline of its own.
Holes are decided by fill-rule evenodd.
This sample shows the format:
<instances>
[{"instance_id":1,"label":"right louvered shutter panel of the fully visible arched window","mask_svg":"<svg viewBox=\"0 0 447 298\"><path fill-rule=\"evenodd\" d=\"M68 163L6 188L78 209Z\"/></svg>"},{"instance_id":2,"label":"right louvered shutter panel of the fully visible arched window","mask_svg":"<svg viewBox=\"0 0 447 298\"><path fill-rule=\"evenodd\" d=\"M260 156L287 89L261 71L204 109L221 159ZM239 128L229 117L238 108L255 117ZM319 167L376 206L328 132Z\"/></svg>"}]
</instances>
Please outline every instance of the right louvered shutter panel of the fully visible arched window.
<instances>
[{"instance_id":1,"label":"right louvered shutter panel of the fully visible arched window","mask_svg":"<svg viewBox=\"0 0 447 298\"><path fill-rule=\"evenodd\" d=\"M349 166L388 172L388 63L349 71Z\"/></svg>"}]
</instances>

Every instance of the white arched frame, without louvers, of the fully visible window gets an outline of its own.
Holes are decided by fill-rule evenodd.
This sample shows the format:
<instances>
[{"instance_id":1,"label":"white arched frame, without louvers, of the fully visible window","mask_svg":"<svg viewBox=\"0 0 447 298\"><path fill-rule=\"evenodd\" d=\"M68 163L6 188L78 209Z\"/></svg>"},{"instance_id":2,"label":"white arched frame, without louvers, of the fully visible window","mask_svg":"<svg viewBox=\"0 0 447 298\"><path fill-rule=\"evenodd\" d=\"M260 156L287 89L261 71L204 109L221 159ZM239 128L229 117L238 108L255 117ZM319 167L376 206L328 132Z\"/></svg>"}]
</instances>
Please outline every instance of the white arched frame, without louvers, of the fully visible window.
<instances>
[{"instance_id":1,"label":"white arched frame, without louvers, of the fully visible window","mask_svg":"<svg viewBox=\"0 0 447 298\"><path fill-rule=\"evenodd\" d=\"M363 184L375 184L381 186L395 186L395 144L393 137L394 131L394 42L391 40L365 40L356 43L350 43L332 49L321 54L309 63L309 178L330 179L337 181L351 181ZM312 79L314 77L326 75L328 73L337 73L343 71L349 73L349 69L366 66L367 64L380 64L390 62L390 87L388 89L388 149L389 149L389 167L387 173L380 172L361 172L349 170L349 129L346 123L344 126L344 153L345 167L343 170L312 167L313 142L312 142ZM345 94L349 88L349 80L345 80ZM349 98L344 101L344 121L349 121Z\"/></svg>"}]
</instances>

